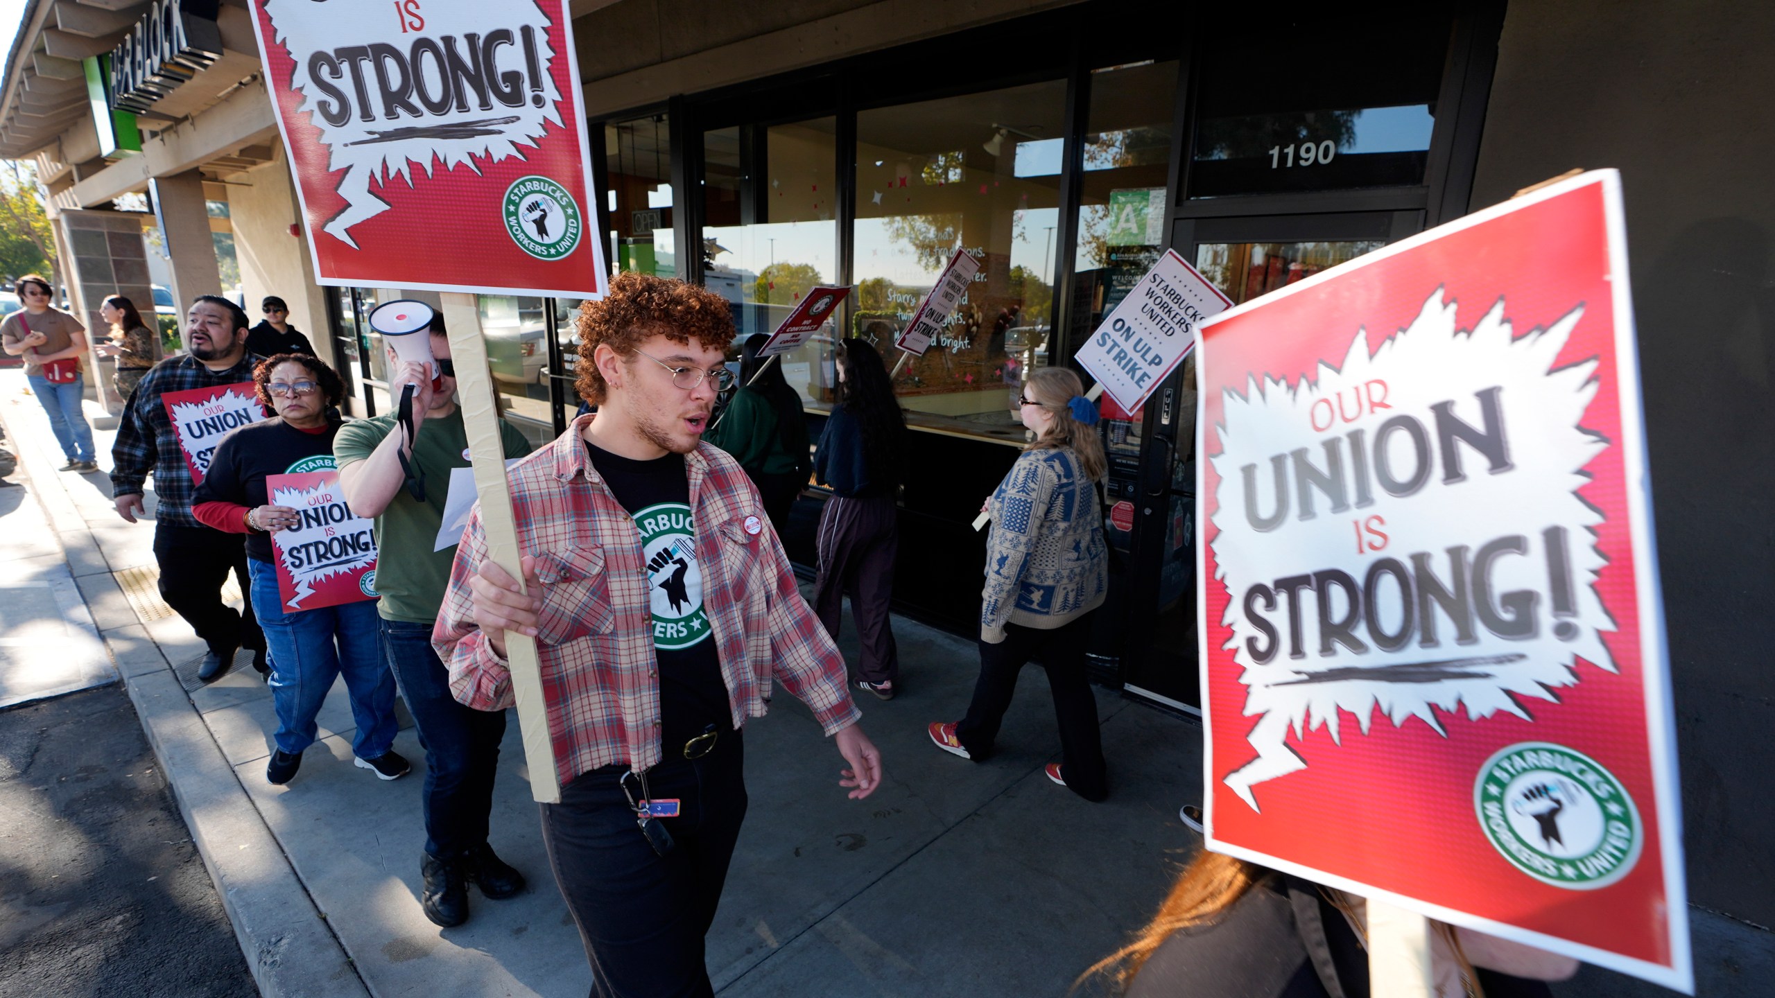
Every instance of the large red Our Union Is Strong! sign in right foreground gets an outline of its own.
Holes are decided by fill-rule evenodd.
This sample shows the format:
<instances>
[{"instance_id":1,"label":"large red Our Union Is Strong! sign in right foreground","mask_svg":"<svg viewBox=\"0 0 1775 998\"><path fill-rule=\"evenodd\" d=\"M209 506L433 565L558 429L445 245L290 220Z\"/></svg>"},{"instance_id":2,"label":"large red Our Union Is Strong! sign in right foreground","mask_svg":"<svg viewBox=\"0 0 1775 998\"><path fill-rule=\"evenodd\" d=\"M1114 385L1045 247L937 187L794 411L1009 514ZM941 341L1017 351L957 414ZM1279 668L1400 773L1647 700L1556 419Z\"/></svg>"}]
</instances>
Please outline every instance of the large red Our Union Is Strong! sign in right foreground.
<instances>
[{"instance_id":1,"label":"large red Our Union Is Strong! sign in right foreground","mask_svg":"<svg viewBox=\"0 0 1775 998\"><path fill-rule=\"evenodd\" d=\"M1619 178L1207 321L1209 847L1690 989Z\"/></svg>"}]
</instances>

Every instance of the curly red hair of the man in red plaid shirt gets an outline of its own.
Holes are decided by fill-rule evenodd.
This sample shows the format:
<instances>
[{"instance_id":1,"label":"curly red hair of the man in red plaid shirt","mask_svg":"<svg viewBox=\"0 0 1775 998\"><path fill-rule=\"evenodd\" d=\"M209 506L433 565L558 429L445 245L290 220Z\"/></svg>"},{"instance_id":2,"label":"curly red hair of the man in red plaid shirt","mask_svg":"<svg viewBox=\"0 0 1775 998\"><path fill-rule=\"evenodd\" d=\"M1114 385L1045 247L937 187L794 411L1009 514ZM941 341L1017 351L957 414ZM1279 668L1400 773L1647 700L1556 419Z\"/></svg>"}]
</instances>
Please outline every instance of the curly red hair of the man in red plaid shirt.
<instances>
[{"instance_id":1,"label":"curly red hair of the man in red plaid shirt","mask_svg":"<svg viewBox=\"0 0 1775 998\"><path fill-rule=\"evenodd\" d=\"M582 304L577 325L579 380L573 387L593 405L604 405L611 389L593 359L600 345L627 359L653 334L664 334L673 343L694 339L722 352L735 336L733 309L721 295L683 281L634 272L618 273L604 300Z\"/></svg>"}]
</instances>

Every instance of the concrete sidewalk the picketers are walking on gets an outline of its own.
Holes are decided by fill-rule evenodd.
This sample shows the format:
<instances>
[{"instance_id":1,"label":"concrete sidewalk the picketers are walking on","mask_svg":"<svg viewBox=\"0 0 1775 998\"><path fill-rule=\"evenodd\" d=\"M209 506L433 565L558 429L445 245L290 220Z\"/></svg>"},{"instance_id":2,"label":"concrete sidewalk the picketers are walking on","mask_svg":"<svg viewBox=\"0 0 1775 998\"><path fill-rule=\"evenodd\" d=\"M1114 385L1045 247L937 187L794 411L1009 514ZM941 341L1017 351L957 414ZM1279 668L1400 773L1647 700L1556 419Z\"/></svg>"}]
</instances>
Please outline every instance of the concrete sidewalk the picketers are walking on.
<instances>
[{"instance_id":1,"label":"concrete sidewalk the picketers are walking on","mask_svg":"<svg viewBox=\"0 0 1775 998\"><path fill-rule=\"evenodd\" d=\"M103 476L53 471L60 455L48 423L21 389L20 375L0 373L0 419L41 483L67 572L261 991L586 994L591 977L548 874L517 719L492 840L531 890L506 902L470 891L470 922L440 931L417 904L424 753L412 728L396 748L414 772L371 778L350 765L351 714L335 687L320 717L323 741L295 781L270 787L270 693L245 655L225 678L195 682L202 645L154 595L153 526L117 519ZM110 435L99 437L108 465ZM0 547L25 543L44 538L0 536ZM845 799L838 753L793 698L779 696L770 717L746 730L751 810L708 936L722 994L1060 996L1150 916L1198 847L1177 819L1179 804L1200 799L1198 725L1099 689L1111 799L1088 804L1042 774L1058 737L1040 669L1024 673L999 755L973 765L930 746L925 723L966 709L974 646L903 618L895 629L905 691L891 703L859 700L888 772L868 801ZM854 634L840 646L854 655ZM1750 994L1770 980L1766 932L1693 918L1700 994ZM1585 968L1555 994L1668 993Z\"/></svg>"}]
</instances>

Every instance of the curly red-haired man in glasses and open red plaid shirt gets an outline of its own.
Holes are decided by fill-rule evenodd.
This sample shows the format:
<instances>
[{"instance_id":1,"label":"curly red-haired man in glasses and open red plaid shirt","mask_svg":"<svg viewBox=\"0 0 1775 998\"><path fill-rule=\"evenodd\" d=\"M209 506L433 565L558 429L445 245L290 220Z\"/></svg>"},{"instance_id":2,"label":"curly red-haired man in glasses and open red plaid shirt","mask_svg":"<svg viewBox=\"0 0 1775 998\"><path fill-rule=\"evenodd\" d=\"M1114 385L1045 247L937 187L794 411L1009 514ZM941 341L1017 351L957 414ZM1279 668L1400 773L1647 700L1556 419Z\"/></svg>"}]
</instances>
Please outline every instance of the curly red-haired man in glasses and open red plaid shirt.
<instances>
[{"instance_id":1,"label":"curly red-haired man in glasses and open red plaid shirt","mask_svg":"<svg viewBox=\"0 0 1775 998\"><path fill-rule=\"evenodd\" d=\"M694 284L628 272L586 302L577 387L598 412L508 474L532 595L486 561L476 508L433 634L456 698L493 710L511 703L506 630L536 638L561 783L543 842L602 996L712 993L744 723L772 680L834 735L850 797L880 783L758 490L701 442L731 341L728 302Z\"/></svg>"}]
</instances>

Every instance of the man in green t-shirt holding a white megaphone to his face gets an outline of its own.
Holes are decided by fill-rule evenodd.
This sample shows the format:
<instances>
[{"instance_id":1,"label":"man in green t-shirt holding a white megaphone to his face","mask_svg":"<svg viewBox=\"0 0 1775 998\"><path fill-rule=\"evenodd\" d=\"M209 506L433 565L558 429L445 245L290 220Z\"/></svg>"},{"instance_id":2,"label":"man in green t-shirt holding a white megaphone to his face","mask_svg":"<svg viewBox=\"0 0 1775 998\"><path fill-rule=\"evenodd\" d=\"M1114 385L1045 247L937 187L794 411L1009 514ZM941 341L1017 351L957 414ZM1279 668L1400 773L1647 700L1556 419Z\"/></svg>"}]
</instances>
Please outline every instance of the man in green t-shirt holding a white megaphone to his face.
<instances>
[{"instance_id":1,"label":"man in green t-shirt holding a white megaphone to his face","mask_svg":"<svg viewBox=\"0 0 1775 998\"><path fill-rule=\"evenodd\" d=\"M431 625L456 558L454 547L433 547L451 469L469 467L444 316L424 302L403 300L376 307L369 325L387 345L389 392L398 408L339 428L334 458L351 511L376 520L382 648L426 749L419 904L447 929L469 918L470 881L490 899L524 890L524 875L486 842L506 714L456 703L449 671L431 650ZM509 423L501 423L501 433L508 458L531 451Z\"/></svg>"}]
</instances>

